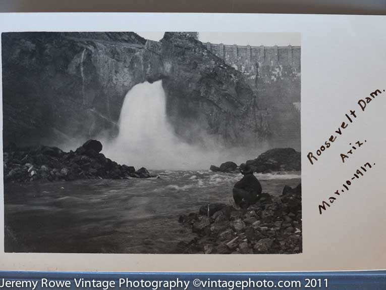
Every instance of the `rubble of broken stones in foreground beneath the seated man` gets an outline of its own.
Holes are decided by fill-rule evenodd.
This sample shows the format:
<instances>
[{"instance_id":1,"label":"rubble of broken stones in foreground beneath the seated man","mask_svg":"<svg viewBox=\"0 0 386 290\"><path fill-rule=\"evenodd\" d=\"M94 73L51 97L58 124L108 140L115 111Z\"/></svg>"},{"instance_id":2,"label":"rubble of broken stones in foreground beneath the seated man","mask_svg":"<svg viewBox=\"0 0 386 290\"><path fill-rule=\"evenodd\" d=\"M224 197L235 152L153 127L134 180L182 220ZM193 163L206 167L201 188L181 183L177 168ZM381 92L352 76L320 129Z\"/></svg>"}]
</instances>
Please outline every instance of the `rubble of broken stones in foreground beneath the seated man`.
<instances>
[{"instance_id":1,"label":"rubble of broken stones in foreground beneath the seated man","mask_svg":"<svg viewBox=\"0 0 386 290\"><path fill-rule=\"evenodd\" d=\"M255 205L235 210L231 205L209 204L198 213L182 215L179 222L197 237L180 242L178 253L189 254L295 254L302 252L301 185L285 187L280 197L262 194Z\"/></svg>"}]
</instances>

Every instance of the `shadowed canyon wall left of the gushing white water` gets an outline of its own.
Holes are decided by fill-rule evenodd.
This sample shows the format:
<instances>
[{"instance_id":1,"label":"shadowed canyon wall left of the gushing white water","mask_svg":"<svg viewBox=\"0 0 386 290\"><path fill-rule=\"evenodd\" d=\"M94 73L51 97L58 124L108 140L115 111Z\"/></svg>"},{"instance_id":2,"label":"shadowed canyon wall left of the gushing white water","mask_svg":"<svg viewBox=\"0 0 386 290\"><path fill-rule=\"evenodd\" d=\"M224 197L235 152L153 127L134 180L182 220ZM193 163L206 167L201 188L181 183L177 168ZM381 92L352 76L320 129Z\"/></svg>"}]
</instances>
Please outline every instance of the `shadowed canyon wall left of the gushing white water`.
<instances>
[{"instance_id":1,"label":"shadowed canyon wall left of the gushing white water","mask_svg":"<svg viewBox=\"0 0 386 290\"><path fill-rule=\"evenodd\" d=\"M130 32L3 33L5 144L58 146L117 130L144 67L158 74L159 58L144 56L145 43Z\"/></svg>"}]
</instances>

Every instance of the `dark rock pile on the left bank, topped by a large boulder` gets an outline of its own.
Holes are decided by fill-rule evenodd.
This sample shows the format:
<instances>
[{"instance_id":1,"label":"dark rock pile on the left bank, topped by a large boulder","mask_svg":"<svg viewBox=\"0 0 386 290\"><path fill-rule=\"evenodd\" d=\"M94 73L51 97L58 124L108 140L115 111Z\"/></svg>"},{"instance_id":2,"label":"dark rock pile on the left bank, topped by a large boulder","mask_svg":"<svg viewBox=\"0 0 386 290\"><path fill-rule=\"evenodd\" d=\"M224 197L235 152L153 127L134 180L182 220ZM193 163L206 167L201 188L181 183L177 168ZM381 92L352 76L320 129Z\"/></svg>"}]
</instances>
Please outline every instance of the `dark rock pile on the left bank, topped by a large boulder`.
<instances>
[{"instance_id":1,"label":"dark rock pile on the left bank, topped by a large boulder","mask_svg":"<svg viewBox=\"0 0 386 290\"><path fill-rule=\"evenodd\" d=\"M4 180L123 179L152 177L146 168L120 165L100 153L102 144L88 140L75 152L57 147L25 147L11 145L4 149Z\"/></svg>"}]
</instances>

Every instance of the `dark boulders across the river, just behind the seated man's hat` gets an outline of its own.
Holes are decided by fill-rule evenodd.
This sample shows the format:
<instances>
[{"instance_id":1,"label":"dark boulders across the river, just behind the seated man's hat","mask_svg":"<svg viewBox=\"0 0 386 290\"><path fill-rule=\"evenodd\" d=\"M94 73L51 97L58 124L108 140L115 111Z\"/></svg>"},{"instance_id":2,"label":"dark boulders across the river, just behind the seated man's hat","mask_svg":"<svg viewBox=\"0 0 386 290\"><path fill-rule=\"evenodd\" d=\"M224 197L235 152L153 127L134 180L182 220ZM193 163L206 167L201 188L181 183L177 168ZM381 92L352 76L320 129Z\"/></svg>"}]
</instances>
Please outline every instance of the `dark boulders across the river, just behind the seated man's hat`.
<instances>
[{"instance_id":1,"label":"dark boulders across the river, just behind the seated man's hat","mask_svg":"<svg viewBox=\"0 0 386 290\"><path fill-rule=\"evenodd\" d=\"M254 172L257 173L301 170L300 152L295 151L293 148L271 149L259 155L256 159L248 160L245 164L250 165ZM228 161L220 165L220 167L211 165L209 169L213 172L233 172L240 168L240 166Z\"/></svg>"}]
</instances>

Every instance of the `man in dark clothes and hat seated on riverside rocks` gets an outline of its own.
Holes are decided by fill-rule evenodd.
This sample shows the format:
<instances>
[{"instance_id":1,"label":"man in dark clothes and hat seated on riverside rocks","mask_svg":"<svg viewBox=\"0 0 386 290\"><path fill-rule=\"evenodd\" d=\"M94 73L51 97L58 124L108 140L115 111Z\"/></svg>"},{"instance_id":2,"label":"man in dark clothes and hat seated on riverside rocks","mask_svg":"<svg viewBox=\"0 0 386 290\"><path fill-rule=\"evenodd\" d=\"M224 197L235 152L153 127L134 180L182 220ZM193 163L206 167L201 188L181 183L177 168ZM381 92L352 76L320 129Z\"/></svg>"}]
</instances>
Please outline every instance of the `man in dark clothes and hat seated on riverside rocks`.
<instances>
[{"instance_id":1,"label":"man in dark clothes and hat seated on riverside rocks","mask_svg":"<svg viewBox=\"0 0 386 290\"><path fill-rule=\"evenodd\" d=\"M246 207L249 207L258 201L262 189L250 166L242 164L240 171L244 176L236 182L233 188L233 199L237 206L244 200Z\"/></svg>"}]
</instances>

